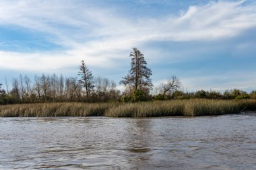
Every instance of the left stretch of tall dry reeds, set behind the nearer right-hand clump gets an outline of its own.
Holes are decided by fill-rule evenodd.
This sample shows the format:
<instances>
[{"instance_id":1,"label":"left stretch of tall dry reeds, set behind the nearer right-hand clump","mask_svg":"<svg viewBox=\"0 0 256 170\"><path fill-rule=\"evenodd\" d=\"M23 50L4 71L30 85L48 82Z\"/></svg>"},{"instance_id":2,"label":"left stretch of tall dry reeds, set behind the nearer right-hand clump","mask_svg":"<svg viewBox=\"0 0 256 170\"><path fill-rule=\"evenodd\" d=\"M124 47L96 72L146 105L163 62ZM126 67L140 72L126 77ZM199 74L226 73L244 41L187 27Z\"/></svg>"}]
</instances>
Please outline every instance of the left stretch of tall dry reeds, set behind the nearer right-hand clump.
<instances>
[{"instance_id":1,"label":"left stretch of tall dry reeds, set behind the nearer right-hand clump","mask_svg":"<svg viewBox=\"0 0 256 170\"><path fill-rule=\"evenodd\" d=\"M104 116L115 103L32 103L0 105L1 117Z\"/></svg>"}]
</instances>

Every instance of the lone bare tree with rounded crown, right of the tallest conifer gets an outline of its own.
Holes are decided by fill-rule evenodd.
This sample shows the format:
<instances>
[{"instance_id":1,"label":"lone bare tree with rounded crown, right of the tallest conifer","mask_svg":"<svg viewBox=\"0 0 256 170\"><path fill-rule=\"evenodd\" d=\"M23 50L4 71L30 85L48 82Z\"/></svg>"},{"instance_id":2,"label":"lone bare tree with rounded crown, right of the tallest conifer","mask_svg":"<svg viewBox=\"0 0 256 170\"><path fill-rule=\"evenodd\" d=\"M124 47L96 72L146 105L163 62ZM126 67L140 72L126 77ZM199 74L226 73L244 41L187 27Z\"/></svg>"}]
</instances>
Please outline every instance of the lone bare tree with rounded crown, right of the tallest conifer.
<instances>
[{"instance_id":1,"label":"lone bare tree with rounded crown, right of the tallest conifer","mask_svg":"<svg viewBox=\"0 0 256 170\"><path fill-rule=\"evenodd\" d=\"M176 76L172 76L170 79L166 81L166 83L162 83L159 87L160 92L162 93L162 99L167 92L177 90L181 87L181 81Z\"/></svg>"}]
</instances>

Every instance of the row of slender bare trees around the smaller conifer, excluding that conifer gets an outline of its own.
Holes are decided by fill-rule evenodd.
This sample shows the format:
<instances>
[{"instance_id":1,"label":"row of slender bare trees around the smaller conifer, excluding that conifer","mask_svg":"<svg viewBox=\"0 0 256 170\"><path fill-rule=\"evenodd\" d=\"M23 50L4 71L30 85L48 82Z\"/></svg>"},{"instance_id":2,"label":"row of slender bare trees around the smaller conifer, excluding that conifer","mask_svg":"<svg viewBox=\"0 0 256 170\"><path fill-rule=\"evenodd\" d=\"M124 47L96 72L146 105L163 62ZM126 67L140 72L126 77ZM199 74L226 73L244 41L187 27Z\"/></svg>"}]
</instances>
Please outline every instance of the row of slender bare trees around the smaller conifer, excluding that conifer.
<instances>
[{"instance_id":1,"label":"row of slender bare trees around the smaller conifer, excluding that conifer","mask_svg":"<svg viewBox=\"0 0 256 170\"><path fill-rule=\"evenodd\" d=\"M109 79L97 77L94 80L94 91L90 94L90 101L118 101L120 91L117 85ZM28 76L20 75L12 79L11 89L1 89L0 104L13 103L40 103L40 102L63 102L63 101L88 101L86 91L77 77L35 75L31 80Z\"/></svg>"}]
</instances>

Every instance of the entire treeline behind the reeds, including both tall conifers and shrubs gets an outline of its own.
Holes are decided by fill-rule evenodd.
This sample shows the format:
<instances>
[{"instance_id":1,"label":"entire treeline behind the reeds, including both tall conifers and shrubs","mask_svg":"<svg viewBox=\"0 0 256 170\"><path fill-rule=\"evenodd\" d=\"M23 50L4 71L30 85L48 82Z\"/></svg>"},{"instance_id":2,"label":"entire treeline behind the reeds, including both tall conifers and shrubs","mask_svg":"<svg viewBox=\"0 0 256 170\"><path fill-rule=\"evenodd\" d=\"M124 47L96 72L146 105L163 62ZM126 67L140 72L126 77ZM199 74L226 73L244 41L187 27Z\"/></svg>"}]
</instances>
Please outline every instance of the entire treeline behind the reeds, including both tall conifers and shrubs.
<instances>
[{"instance_id":1,"label":"entire treeline behind the reeds, including both tall conifers and shrubs","mask_svg":"<svg viewBox=\"0 0 256 170\"><path fill-rule=\"evenodd\" d=\"M109 79L94 78L84 60L79 65L77 77L63 77L63 75L35 75L34 79L20 75L13 78L11 88L5 82L6 91L0 84L0 104L12 103L40 103L40 102L63 102L63 101L151 101L166 99L256 99L256 91L247 93L239 89L227 90L224 93L218 91L200 90L194 93L181 91L181 81L172 76L165 83L155 87L152 84L152 71L148 68L144 55L137 49L132 48L130 53L131 69L120 81L125 86L121 93L117 84Z\"/></svg>"}]
</instances>

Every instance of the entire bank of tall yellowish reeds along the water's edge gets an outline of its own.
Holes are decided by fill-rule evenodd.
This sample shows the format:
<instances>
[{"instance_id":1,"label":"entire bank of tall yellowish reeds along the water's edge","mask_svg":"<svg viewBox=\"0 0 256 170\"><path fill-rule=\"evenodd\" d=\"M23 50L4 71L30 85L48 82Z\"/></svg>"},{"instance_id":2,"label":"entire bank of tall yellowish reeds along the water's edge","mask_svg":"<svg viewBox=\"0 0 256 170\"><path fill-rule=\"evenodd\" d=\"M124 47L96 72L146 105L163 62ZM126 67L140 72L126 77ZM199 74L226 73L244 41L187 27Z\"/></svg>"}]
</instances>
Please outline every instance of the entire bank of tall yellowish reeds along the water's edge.
<instances>
[{"instance_id":1,"label":"entire bank of tall yellowish reeds along the water's edge","mask_svg":"<svg viewBox=\"0 0 256 170\"><path fill-rule=\"evenodd\" d=\"M0 105L0 117L155 117L215 116L256 110L256 99L185 99L140 103L30 103Z\"/></svg>"}]
</instances>

